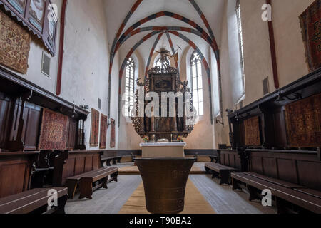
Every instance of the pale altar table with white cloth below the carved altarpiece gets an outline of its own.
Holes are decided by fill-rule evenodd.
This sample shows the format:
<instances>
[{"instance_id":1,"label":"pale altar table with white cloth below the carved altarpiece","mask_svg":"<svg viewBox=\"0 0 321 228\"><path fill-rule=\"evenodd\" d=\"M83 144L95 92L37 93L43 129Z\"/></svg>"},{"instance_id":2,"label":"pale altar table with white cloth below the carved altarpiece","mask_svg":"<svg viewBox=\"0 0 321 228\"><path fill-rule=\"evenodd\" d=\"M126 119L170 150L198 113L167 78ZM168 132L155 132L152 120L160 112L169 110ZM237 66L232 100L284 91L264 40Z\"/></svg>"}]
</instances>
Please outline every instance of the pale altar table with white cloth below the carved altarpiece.
<instances>
[{"instance_id":1,"label":"pale altar table with white cloth below the carved altarpiece","mask_svg":"<svg viewBox=\"0 0 321 228\"><path fill-rule=\"evenodd\" d=\"M141 143L142 157L185 157L185 142Z\"/></svg>"}]
</instances>

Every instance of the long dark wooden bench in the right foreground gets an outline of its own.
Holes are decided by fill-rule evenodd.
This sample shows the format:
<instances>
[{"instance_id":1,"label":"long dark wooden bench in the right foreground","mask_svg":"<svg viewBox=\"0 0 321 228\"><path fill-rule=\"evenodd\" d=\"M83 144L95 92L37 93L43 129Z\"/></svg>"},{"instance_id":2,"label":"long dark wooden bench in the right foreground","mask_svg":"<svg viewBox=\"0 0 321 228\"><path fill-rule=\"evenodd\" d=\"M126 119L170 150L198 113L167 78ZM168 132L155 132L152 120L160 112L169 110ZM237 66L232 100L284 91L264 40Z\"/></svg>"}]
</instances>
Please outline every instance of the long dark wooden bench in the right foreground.
<instances>
[{"instance_id":1,"label":"long dark wooden bench in the right foreground","mask_svg":"<svg viewBox=\"0 0 321 228\"><path fill-rule=\"evenodd\" d=\"M250 193L250 201L260 199L258 190L270 190L272 196L276 197L277 213L288 212L289 205L287 202L310 212L321 213L321 192L315 191L314 194L307 194L307 191L310 190L306 191L306 188L300 185L285 181L279 182L276 179L255 177L255 175L251 175L248 172L232 173L231 177L233 190L247 189ZM299 209L299 212L302 212L302 210Z\"/></svg>"}]
</instances>

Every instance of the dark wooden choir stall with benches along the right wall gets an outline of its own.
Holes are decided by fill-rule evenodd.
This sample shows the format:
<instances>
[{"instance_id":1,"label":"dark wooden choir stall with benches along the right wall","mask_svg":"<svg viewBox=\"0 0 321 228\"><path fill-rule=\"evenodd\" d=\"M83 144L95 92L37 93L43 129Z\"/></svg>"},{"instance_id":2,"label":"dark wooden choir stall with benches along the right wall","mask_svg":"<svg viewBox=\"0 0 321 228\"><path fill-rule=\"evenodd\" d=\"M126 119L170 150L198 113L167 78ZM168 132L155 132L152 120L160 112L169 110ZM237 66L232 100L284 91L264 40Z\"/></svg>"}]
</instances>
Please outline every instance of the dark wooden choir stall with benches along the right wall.
<instances>
[{"instance_id":1,"label":"dark wooden choir stall with benches along the right wall","mask_svg":"<svg viewBox=\"0 0 321 228\"><path fill-rule=\"evenodd\" d=\"M250 200L271 190L278 213L321 213L321 70L227 111L233 150L207 172Z\"/></svg>"}]
</instances>

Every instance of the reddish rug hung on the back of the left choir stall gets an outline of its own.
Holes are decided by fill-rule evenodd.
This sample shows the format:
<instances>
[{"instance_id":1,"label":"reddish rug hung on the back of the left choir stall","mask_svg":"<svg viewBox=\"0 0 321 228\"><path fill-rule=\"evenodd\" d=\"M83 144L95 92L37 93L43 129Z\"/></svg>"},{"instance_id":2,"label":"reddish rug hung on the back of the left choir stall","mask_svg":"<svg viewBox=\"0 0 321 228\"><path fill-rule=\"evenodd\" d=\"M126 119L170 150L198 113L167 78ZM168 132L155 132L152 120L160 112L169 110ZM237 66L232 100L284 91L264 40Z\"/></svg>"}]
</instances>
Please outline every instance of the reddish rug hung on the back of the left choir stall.
<instances>
[{"instance_id":1,"label":"reddish rug hung on the back of the left choir stall","mask_svg":"<svg viewBox=\"0 0 321 228\"><path fill-rule=\"evenodd\" d=\"M68 116L43 108L39 150L66 150Z\"/></svg>"}]
</instances>

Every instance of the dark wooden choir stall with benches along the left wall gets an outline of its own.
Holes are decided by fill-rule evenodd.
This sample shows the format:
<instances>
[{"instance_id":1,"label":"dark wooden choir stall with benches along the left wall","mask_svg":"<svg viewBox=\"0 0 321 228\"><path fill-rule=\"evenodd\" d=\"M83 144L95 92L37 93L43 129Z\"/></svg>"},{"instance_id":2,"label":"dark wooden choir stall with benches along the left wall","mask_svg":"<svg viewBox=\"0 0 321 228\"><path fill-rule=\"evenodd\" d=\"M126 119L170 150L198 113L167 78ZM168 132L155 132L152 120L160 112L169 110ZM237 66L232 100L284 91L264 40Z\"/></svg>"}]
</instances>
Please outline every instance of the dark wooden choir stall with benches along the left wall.
<instances>
[{"instance_id":1,"label":"dark wooden choir stall with benches along the left wall","mask_svg":"<svg viewBox=\"0 0 321 228\"><path fill-rule=\"evenodd\" d=\"M0 110L0 213L64 213L76 190L91 199L93 190L117 181L118 169L101 163L103 150L86 150L87 110L1 66ZM61 207L48 210L51 189Z\"/></svg>"}]
</instances>

